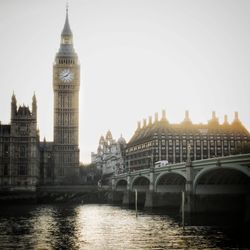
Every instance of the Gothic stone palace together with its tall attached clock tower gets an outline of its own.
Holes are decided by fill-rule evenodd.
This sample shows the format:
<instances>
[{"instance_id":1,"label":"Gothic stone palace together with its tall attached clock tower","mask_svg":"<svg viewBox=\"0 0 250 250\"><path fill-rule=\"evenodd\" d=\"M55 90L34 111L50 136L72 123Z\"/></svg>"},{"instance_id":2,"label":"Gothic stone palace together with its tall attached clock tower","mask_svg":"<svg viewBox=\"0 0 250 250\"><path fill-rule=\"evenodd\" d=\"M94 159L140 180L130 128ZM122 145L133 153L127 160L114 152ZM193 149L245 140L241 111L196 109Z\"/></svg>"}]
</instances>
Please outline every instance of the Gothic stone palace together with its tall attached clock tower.
<instances>
[{"instance_id":1,"label":"Gothic stone palace together with its tall attached clock tower","mask_svg":"<svg viewBox=\"0 0 250 250\"><path fill-rule=\"evenodd\" d=\"M37 102L32 110L11 101L11 122L0 124L0 187L36 190L43 184L79 181L79 87L80 65L73 47L68 10L61 44L53 65L54 141L40 142Z\"/></svg>"}]
</instances>

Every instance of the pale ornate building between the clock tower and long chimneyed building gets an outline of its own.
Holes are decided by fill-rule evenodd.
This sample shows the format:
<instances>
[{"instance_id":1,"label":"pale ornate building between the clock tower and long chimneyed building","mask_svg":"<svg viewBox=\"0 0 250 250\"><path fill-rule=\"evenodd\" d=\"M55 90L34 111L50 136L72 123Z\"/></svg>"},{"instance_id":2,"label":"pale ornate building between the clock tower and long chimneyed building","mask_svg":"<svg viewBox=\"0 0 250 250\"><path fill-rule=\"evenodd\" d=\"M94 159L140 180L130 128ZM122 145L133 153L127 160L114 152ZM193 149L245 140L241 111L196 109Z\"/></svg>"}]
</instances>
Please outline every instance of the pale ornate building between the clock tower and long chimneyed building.
<instances>
[{"instance_id":1,"label":"pale ornate building between the clock tower and long chimneyed building","mask_svg":"<svg viewBox=\"0 0 250 250\"><path fill-rule=\"evenodd\" d=\"M97 153L91 153L91 163L102 171L104 177L122 172L125 168L125 147L126 141L122 136L116 141L108 131L105 138L101 136Z\"/></svg>"}]
</instances>

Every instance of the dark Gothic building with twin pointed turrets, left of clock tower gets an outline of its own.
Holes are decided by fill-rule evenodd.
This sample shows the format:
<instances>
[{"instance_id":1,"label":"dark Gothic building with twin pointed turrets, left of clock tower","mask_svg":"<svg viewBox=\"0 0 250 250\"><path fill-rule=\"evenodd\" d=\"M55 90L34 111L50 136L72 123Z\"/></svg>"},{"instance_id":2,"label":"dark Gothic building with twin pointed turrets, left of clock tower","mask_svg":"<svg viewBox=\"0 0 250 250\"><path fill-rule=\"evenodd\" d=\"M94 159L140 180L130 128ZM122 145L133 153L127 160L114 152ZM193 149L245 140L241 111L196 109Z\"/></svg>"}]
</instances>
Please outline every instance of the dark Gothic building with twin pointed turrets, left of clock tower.
<instances>
[{"instance_id":1,"label":"dark Gothic building with twin pointed turrets, left of clock tower","mask_svg":"<svg viewBox=\"0 0 250 250\"><path fill-rule=\"evenodd\" d=\"M36 97L30 110L24 105L17 108L13 94L11 122L0 125L0 185L11 190L35 190L39 173Z\"/></svg>"}]
</instances>

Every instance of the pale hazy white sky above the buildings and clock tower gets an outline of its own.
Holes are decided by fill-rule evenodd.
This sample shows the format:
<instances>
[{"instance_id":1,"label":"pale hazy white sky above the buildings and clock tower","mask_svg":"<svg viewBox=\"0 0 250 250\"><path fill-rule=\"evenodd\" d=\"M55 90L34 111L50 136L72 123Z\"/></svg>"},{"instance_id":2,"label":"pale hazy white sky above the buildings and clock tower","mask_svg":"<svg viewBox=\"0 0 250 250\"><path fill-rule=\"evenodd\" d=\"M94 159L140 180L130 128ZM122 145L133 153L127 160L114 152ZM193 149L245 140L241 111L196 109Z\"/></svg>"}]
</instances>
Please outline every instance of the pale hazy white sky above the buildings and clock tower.
<instances>
[{"instance_id":1,"label":"pale hazy white sky above the buildings and clock tower","mask_svg":"<svg viewBox=\"0 0 250 250\"><path fill-rule=\"evenodd\" d=\"M62 0L0 1L0 120L14 90L31 106L41 140L53 140L52 66L65 21ZM137 121L166 109L172 123L239 111L250 129L249 0L71 0L81 63L80 150L89 162L110 129L128 141Z\"/></svg>"}]
</instances>

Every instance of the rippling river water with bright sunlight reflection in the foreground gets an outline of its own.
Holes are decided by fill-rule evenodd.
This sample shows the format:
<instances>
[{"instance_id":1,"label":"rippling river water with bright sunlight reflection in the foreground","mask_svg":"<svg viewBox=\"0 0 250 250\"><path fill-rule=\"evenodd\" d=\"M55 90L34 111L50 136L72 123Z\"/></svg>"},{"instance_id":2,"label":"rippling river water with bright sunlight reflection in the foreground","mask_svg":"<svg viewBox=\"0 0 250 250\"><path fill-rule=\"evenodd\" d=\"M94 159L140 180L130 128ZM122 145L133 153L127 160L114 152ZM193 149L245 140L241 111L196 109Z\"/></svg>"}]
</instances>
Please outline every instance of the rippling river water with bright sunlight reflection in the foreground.
<instances>
[{"instance_id":1,"label":"rippling river water with bright sunlight reflection in the foreground","mask_svg":"<svg viewBox=\"0 0 250 250\"><path fill-rule=\"evenodd\" d=\"M248 249L224 229L109 205L0 207L0 249Z\"/></svg>"}]
</instances>

